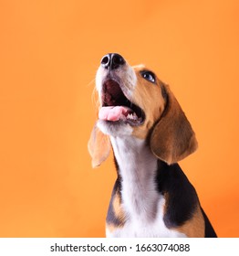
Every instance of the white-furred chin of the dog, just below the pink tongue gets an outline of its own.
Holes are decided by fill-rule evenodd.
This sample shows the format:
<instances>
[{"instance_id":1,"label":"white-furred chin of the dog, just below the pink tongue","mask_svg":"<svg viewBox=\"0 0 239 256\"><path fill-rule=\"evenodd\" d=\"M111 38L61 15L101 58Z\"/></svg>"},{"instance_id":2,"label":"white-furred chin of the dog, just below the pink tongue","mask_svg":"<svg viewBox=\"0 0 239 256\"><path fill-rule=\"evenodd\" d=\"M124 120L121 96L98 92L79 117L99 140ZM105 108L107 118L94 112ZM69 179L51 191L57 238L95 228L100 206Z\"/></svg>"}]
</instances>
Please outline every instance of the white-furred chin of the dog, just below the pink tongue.
<instances>
[{"instance_id":1,"label":"white-furred chin of the dog, just below the pink tongue","mask_svg":"<svg viewBox=\"0 0 239 256\"><path fill-rule=\"evenodd\" d=\"M131 135L133 131L129 123L121 120L117 122L99 120L97 126L102 133L113 137Z\"/></svg>"}]
</instances>

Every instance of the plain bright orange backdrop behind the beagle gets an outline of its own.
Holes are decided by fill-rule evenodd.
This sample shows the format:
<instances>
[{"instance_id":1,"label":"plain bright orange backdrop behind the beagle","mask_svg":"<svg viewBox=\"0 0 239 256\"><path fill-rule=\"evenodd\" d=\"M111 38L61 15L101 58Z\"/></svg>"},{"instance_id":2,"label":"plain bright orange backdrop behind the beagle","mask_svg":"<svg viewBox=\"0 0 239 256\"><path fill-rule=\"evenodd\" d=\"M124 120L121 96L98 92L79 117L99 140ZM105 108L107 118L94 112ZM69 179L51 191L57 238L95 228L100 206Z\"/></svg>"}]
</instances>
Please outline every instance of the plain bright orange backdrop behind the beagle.
<instances>
[{"instance_id":1,"label":"plain bright orange backdrop behind the beagle","mask_svg":"<svg viewBox=\"0 0 239 256\"><path fill-rule=\"evenodd\" d=\"M199 141L181 162L220 237L239 236L239 2L0 2L0 236L103 237L115 171L92 170L99 60L171 85Z\"/></svg>"}]
</instances>

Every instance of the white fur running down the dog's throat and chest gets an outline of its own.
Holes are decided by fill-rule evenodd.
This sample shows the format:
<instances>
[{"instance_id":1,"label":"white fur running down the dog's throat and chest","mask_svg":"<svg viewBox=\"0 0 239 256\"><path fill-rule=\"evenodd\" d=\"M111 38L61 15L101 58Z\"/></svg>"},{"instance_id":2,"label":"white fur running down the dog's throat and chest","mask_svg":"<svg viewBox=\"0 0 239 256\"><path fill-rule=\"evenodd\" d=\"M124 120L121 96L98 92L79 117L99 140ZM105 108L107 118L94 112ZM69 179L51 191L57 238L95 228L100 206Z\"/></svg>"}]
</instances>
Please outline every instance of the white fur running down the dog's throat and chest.
<instances>
[{"instance_id":1,"label":"white fur running down the dog's throat and chest","mask_svg":"<svg viewBox=\"0 0 239 256\"><path fill-rule=\"evenodd\" d=\"M163 222L164 197L157 191L157 158L145 141L130 136L111 137L111 144L122 177L122 208L125 225L108 237L185 237L168 229Z\"/></svg>"}]
</instances>

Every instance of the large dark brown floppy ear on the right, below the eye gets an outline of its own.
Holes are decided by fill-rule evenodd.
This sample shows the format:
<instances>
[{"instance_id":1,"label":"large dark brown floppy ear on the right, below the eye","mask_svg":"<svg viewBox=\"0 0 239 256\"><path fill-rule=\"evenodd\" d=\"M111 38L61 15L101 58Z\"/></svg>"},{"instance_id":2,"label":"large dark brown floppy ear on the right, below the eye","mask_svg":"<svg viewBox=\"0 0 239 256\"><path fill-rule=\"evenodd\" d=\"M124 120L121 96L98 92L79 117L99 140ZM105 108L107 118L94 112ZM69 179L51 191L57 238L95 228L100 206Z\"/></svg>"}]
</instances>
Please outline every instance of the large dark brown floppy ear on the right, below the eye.
<instances>
[{"instance_id":1,"label":"large dark brown floppy ear on the right, below the eye","mask_svg":"<svg viewBox=\"0 0 239 256\"><path fill-rule=\"evenodd\" d=\"M167 104L151 133L151 151L168 165L177 163L197 149L197 140L179 102L169 87Z\"/></svg>"}]
</instances>

